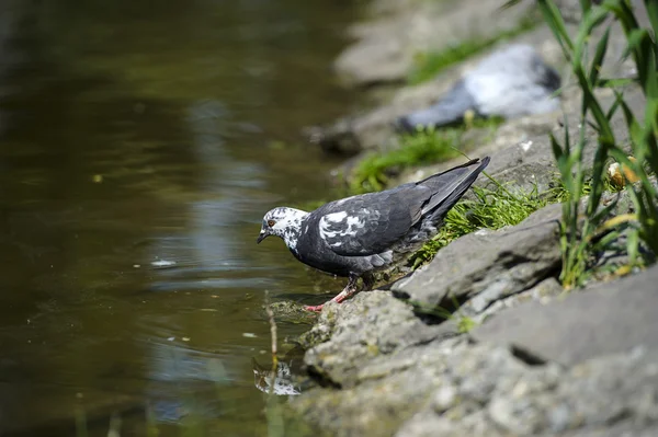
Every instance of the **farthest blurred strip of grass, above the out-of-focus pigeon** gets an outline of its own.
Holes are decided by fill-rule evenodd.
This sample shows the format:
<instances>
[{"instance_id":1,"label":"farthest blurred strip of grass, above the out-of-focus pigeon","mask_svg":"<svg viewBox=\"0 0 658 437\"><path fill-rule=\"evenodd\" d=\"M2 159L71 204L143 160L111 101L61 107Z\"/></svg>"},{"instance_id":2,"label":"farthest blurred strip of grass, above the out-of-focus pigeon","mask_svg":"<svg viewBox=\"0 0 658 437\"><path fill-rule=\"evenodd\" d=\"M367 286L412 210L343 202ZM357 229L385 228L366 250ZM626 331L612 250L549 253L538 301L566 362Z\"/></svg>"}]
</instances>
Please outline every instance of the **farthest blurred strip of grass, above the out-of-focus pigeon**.
<instances>
[{"instance_id":1,"label":"farthest blurred strip of grass, above the out-of-focus pigeon","mask_svg":"<svg viewBox=\"0 0 658 437\"><path fill-rule=\"evenodd\" d=\"M416 66L407 78L409 84L418 84L433 79L445 68L461 62L473 55L476 55L495 44L518 36L530 31L537 24L537 21L531 18L521 20L519 24L508 31L490 38L474 38L461 41L442 51L430 51L418 54L416 56Z\"/></svg>"}]
</instances>

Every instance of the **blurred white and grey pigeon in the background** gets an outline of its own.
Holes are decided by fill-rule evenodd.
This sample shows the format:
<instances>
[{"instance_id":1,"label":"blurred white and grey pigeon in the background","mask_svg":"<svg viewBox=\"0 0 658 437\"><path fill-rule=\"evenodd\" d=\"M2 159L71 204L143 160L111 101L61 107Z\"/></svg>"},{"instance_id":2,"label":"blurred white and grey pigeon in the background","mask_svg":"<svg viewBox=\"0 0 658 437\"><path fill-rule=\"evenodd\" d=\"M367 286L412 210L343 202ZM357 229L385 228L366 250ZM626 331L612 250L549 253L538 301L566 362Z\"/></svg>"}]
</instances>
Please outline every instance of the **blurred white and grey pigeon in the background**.
<instances>
[{"instance_id":1,"label":"blurred white and grey pigeon in the background","mask_svg":"<svg viewBox=\"0 0 658 437\"><path fill-rule=\"evenodd\" d=\"M399 117L398 130L413 133L458 123L467 111L506 118L555 111L559 74L532 46L513 44L483 59L433 106Z\"/></svg>"}]
</instances>

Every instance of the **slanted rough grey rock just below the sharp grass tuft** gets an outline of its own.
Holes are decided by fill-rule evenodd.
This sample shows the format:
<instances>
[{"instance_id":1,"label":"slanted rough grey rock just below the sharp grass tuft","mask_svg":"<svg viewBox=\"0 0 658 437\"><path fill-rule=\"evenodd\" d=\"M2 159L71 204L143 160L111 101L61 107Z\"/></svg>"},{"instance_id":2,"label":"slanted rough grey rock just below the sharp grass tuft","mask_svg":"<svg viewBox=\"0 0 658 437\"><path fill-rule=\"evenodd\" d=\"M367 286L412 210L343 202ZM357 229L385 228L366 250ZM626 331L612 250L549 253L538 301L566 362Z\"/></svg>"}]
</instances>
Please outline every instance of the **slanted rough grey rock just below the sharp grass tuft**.
<instances>
[{"instance_id":1,"label":"slanted rough grey rock just below the sharp grass tuft","mask_svg":"<svg viewBox=\"0 0 658 437\"><path fill-rule=\"evenodd\" d=\"M470 309L479 313L494 301L526 290L557 272L560 217L561 206L551 205L519 226L462 237L392 289L426 310L477 295Z\"/></svg>"}]
</instances>

